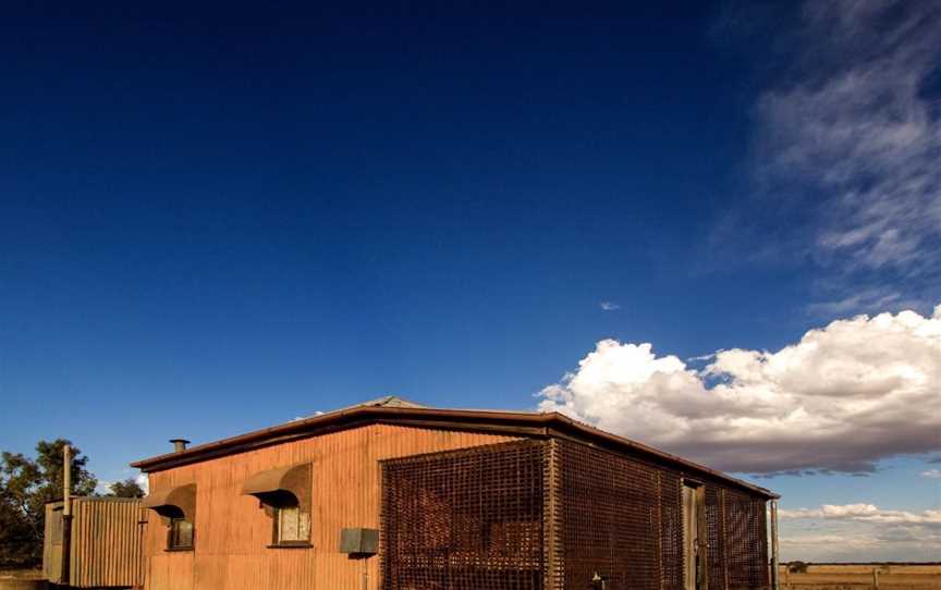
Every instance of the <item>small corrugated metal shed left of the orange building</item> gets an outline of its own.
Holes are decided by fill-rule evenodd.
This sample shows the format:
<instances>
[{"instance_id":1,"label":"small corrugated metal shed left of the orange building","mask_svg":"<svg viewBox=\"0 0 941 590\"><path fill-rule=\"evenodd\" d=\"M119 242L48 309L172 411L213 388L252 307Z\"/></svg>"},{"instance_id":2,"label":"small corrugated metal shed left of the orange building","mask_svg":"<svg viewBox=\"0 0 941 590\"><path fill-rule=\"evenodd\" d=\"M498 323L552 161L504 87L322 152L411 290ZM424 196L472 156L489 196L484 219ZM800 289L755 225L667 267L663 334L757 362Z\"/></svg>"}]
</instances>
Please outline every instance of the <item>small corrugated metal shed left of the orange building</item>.
<instances>
[{"instance_id":1,"label":"small corrugated metal shed left of the orange building","mask_svg":"<svg viewBox=\"0 0 941 590\"><path fill-rule=\"evenodd\" d=\"M62 503L46 505L42 569L46 578L63 583ZM120 497L72 500L69 586L75 588L135 587L144 583L143 536L146 513L140 501Z\"/></svg>"}]
</instances>

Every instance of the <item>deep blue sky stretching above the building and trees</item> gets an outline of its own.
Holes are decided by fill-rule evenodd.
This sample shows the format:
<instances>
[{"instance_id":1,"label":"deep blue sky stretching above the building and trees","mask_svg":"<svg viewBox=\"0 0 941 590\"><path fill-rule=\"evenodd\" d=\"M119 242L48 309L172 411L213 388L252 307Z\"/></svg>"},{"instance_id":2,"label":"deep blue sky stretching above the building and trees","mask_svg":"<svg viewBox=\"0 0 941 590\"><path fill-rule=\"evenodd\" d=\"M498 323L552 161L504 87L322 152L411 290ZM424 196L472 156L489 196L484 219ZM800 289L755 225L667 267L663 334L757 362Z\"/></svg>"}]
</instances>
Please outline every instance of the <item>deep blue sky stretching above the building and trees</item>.
<instances>
[{"instance_id":1,"label":"deep blue sky stretching above the building and trees","mask_svg":"<svg viewBox=\"0 0 941 590\"><path fill-rule=\"evenodd\" d=\"M606 339L687 374L902 309L941 414L925 5L4 9L0 447L68 437L113 480L172 437L388 393L534 409L552 384L592 421L563 376ZM702 379L744 383L729 367ZM866 528L888 513L794 515L795 537L938 558L922 426L761 482L785 508L926 519L900 541ZM820 545L790 551L853 557Z\"/></svg>"}]
</instances>

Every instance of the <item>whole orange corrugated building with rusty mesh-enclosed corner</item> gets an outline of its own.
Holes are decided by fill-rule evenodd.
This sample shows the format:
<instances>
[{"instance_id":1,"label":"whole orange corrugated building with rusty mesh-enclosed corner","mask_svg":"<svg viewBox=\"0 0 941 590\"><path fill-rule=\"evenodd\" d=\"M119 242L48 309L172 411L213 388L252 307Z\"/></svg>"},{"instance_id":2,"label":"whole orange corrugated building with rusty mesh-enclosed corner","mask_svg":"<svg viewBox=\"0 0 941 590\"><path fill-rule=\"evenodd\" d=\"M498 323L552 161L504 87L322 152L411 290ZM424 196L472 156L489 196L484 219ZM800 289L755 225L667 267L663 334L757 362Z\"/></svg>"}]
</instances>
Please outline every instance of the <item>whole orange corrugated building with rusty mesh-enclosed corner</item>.
<instances>
[{"instance_id":1,"label":"whole orange corrugated building with rusty mesh-enclosed corner","mask_svg":"<svg viewBox=\"0 0 941 590\"><path fill-rule=\"evenodd\" d=\"M777 495L560 414L383 397L133 466L147 590L769 586Z\"/></svg>"}]
</instances>

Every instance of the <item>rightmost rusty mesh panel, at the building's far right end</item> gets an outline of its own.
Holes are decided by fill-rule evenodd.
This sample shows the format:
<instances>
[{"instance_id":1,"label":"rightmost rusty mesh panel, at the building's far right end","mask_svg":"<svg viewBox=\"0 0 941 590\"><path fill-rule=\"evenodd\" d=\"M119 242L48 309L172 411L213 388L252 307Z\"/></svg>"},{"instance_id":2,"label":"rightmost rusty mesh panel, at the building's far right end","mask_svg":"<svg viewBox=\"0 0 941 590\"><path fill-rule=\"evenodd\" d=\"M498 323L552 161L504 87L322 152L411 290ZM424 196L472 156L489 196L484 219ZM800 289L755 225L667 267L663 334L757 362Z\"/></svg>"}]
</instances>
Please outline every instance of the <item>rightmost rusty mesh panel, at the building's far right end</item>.
<instances>
[{"instance_id":1,"label":"rightmost rusty mesh panel, at the building's far right end","mask_svg":"<svg viewBox=\"0 0 941 590\"><path fill-rule=\"evenodd\" d=\"M725 491L725 542L729 588L768 586L765 502L736 490Z\"/></svg>"}]
</instances>

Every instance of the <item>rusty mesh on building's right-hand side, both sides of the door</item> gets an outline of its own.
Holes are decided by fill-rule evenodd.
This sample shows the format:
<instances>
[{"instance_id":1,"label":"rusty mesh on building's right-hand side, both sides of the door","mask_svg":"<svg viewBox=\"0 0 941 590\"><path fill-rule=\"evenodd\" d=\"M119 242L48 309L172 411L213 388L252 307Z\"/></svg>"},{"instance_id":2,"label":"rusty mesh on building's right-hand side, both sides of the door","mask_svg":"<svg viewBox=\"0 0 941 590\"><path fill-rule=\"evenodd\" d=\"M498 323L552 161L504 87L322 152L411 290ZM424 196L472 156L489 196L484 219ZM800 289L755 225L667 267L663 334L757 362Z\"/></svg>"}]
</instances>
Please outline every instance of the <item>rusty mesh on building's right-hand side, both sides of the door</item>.
<instances>
[{"instance_id":1,"label":"rusty mesh on building's right-hand side, both sides of the door","mask_svg":"<svg viewBox=\"0 0 941 590\"><path fill-rule=\"evenodd\" d=\"M683 590L683 474L559 440L561 580L607 590ZM705 478L708 588L768 586L765 500ZM728 580L728 581L726 581Z\"/></svg>"}]
</instances>

